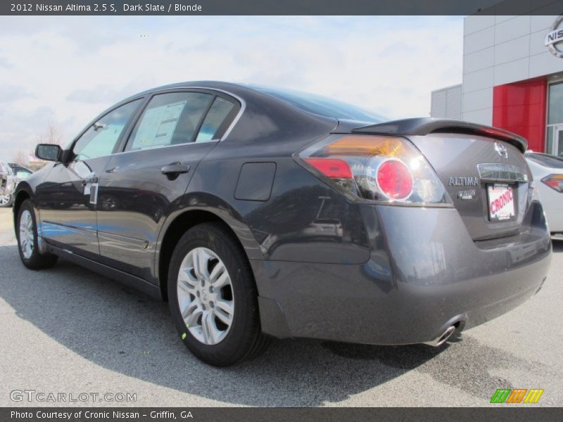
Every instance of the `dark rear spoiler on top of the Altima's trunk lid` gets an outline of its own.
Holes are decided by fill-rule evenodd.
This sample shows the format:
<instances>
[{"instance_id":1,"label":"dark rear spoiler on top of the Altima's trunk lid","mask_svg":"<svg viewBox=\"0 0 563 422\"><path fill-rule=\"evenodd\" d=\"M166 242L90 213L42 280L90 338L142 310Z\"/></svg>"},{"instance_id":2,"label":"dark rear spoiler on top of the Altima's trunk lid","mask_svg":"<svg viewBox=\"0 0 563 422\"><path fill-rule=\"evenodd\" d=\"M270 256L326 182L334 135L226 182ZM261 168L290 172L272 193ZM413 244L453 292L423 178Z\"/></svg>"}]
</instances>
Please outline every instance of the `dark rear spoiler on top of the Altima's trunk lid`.
<instances>
[{"instance_id":1,"label":"dark rear spoiler on top of the Altima's trunk lid","mask_svg":"<svg viewBox=\"0 0 563 422\"><path fill-rule=\"evenodd\" d=\"M393 120L391 122L371 124L369 126L353 129L352 132L356 134L393 134L405 136L424 136L435 133L475 134L510 143L522 153L525 153L526 148L528 148L528 141L526 141L526 139L504 129L483 126L483 124L461 122L460 120L433 119L431 117Z\"/></svg>"}]
</instances>

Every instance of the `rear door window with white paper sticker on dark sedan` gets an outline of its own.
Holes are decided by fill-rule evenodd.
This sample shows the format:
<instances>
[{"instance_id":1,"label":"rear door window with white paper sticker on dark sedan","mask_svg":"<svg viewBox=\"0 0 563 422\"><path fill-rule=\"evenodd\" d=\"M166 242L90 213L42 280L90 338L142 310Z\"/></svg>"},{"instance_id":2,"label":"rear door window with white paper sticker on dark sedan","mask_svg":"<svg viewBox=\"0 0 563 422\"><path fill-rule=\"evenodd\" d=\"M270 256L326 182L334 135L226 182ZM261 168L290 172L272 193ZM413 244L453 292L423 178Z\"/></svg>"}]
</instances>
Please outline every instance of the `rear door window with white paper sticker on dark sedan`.
<instances>
[{"instance_id":1,"label":"rear door window with white paper sticker on dark sedan","mask_svg":"<svg viewBox=\"0 0 563 422\"><path fill-rule=\"evenodd\" d=\"M199 122L213 96L201 92L175 92L154 96L135 126L127 151L194 141Z\"/></svg>"}]
</instances>

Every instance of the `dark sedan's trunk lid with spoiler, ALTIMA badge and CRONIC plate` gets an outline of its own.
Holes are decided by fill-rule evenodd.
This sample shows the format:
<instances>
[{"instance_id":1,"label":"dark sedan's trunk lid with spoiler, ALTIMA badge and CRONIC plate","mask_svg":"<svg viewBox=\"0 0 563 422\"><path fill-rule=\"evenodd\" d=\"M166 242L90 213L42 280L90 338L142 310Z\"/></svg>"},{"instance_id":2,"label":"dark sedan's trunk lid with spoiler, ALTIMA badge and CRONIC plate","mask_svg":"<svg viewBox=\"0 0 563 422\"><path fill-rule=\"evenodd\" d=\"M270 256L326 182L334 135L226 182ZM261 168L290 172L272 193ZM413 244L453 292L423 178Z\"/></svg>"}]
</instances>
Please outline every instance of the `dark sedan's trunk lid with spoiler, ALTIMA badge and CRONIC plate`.
<instances>
[{"instance_id":1,"label":"dark sedan's trunk lid with spoiler, ALTIMA badge and CRONIC plate","mask_svg":"<svg viewBox=\"0 0 563 422\"><path fill-rule=\"evenodd\" d=\"M406 136L426 157L475 241L523 231L531 196L526 140L492 127L408 119L352 130Z\"/></svg>"}]
</instances>

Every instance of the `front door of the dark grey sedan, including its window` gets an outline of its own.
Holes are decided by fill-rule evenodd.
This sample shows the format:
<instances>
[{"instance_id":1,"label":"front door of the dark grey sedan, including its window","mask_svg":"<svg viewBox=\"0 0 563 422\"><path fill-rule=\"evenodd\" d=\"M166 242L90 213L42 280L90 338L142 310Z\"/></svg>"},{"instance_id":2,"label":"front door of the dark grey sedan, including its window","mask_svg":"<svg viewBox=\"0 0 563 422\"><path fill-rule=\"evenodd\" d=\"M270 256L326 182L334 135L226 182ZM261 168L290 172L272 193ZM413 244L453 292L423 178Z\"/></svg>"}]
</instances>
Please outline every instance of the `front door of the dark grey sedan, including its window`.
<instances>
[{"instance_id":1,"label":"front door of the dark grey sedan, including its window","mask_svg":"<svg viewBox=\"0 0 563 422\"><path fill-rule=\"evenodd\" d=\"M99 257L96 199L99 174L118 148L141 99L110 111L92 124L74 143L68 162L57 162L36 198L42 236L61 248L87 257Z\"/></svg>"}]
</instances>

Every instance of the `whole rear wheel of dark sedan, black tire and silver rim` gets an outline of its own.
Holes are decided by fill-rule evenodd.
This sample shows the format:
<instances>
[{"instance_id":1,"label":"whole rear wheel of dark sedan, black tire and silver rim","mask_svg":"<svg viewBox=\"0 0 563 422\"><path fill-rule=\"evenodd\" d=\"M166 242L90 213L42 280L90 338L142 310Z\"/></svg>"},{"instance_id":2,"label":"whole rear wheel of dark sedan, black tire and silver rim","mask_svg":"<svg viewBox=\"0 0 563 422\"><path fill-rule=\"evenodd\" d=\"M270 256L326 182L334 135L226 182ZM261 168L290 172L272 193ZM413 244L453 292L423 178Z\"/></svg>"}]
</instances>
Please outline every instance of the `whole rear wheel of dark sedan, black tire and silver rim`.
<instances>
[{"instance_id":1,"label":"whole rear wheel of dark sedan, black tire and silver rim","mask_svg":"<svg viewBox=\"0 0 563 422\"><path fill-rule=\"evenodd\" d=\"M260 328L250 264L234 236L220 224L198 224L180 238L167 287L180 337L203 362L229 366L258 356L270 343Z\"/></svg>"}]
</instances>

